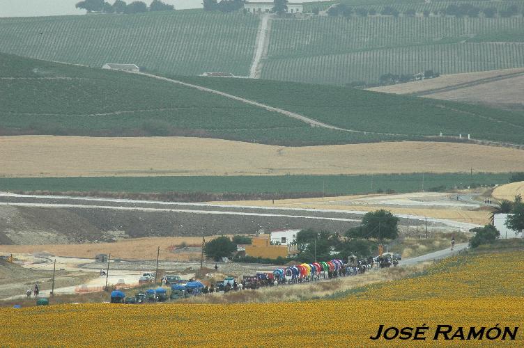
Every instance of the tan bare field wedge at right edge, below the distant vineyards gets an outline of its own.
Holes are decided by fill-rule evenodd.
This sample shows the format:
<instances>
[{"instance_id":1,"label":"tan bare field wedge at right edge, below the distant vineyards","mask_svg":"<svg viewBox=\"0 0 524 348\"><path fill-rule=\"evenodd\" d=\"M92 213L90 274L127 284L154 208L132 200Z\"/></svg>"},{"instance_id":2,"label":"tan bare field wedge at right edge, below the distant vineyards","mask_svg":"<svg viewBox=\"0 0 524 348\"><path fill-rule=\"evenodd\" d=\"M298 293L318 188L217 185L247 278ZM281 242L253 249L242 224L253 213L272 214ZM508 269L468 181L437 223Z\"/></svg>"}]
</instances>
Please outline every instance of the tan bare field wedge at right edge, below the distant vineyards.
<instances>
[{"instance_id":1,"label":"tan bare field wedge at right edge, below the distant vineyards","mask_svg":"<svg viewBox=\"0 0 524 348\"><path fill-rule=\"evenodd\" d=\"M522 99L524 75L497 80L498 77L516 72L524 72L524 68L449 74L436 79L369 88L369 90L395 94L428 93L424 97L456 102L479 102L507 109L524 109ZM484 79L493 80L483 81ZM461 86L462 84L467 85ZM439 92L439 88L453 88L453 90ZM431 93L431 90L435 90L435 93Z\"/></svg>"}]
</instances>

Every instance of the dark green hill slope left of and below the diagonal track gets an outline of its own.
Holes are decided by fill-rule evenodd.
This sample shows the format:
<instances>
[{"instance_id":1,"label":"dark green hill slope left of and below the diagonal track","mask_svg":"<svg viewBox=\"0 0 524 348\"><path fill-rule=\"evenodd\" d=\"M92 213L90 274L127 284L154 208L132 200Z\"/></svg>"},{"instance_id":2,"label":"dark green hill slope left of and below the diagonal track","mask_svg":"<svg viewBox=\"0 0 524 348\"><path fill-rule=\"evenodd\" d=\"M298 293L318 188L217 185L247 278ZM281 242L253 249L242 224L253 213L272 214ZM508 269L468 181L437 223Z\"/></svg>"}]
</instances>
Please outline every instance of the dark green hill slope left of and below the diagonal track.
<instances>
[{"instance_id":1,"label":"dark green hill slope left of and below the diagonal track","mask_svg":"<svg viewBox=\"0 0 524 348\"><path fill-rule=\"evenodd\" d=\"M288 145L395 138L309 127L150 77L6 54L0 54L0 134L203 136Z\"/></svg>"}]
</instances>

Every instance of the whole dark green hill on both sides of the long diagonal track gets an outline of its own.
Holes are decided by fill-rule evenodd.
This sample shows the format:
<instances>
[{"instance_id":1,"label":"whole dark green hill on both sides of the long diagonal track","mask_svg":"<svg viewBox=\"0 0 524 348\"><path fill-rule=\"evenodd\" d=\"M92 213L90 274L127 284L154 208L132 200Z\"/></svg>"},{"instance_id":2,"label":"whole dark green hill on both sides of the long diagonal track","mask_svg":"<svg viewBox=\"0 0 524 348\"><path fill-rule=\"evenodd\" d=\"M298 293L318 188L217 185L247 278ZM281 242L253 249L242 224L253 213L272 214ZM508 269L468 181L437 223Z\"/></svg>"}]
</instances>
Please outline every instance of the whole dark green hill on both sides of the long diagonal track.
<instances>
[{"instance_id":1,"label":"whole dark green hill on both sides of the long diagonal track","mask_svg":"<svg viewBox=\"0 0 524 348\"><path fill-rule=\"evenodd\" d=\"M178 135L316 145L435 140L442 132L524 143L524 114L518 112L338 86L174 79L357 132L310 127L282 113L151 77L0 54L0 134Z\"/></svg>"}]
</instances>

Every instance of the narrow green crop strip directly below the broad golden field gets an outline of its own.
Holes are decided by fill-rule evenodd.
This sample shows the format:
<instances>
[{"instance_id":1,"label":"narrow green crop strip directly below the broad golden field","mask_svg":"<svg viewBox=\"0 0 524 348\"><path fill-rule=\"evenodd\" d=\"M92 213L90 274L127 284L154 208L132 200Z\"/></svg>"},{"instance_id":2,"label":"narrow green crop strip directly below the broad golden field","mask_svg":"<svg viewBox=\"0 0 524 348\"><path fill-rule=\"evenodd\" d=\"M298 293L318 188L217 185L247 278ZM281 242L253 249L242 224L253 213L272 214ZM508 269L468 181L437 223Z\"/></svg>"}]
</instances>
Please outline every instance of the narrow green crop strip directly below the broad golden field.
<instances>
[{"instance_id":1,"label":"narrow green crop strip directly below the broad golden field","mask_svg":"<svg viewBox=\"0 0 524 348\"><path fill-rule=\"evenodd\" d=\"M357 194L394 190L431 191L433 187L464 187L470 184L503 184L509 173L447 173L398 175L284 175L284 176L194 176L194 177L2 177L0 191L109 191L109 192L228 192L293 193L322 192ZM373 185L373 189L371 189Z\"/></svg>"}]
</instances>

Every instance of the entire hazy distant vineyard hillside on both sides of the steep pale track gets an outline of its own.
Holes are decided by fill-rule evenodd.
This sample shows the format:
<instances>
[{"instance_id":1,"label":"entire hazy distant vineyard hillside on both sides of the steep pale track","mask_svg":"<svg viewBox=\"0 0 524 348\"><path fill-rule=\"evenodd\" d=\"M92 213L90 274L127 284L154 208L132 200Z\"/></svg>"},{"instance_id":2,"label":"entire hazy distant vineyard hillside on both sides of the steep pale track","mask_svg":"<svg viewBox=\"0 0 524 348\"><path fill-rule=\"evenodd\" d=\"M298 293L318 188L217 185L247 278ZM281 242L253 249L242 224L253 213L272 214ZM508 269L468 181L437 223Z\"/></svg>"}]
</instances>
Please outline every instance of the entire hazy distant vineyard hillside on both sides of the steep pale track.
<instances>
[{"instance_id":1,"label":"entire hazy distant vineyard hillside on both sides of the steep pale track","mask_svg":"<svg viewBox=\"0 0 524 348\"><path fill-rule=\"evenodd\" d=\"M348 1L354 8L424 5L411 0ZM466 2L470 3L456 3ZM491 6L493 1L480 2ZM514 3L499 2L504 6ZM447 4L435 1L431 6ZM307 8L313 6L309 3ZM0 52L94 67L108 62L136 63L164 74L231 72L247 76L259 22L258 16L241 12L201 10L5 18L0 19ZM360 17L355 13L348 18L272 17L268 28L267 49L259 64L263 79L344 86L352 81L377 82L388 73L433 70L451 74L524 67L520 12L494 18L433 13L430 17L420 13L415 17Z\"/></svg>"}]
</instances>

